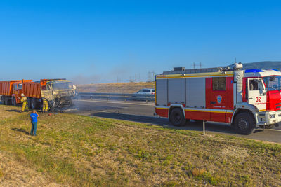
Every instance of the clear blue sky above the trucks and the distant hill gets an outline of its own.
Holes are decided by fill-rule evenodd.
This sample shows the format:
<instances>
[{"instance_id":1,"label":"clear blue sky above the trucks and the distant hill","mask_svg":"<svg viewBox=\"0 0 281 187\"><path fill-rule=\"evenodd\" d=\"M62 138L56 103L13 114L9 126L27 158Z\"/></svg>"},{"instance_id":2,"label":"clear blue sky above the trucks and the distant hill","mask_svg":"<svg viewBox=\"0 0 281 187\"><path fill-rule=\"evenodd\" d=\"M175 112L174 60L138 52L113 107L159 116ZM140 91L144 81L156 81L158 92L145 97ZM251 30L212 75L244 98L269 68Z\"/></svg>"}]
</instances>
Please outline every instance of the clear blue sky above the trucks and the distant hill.
<instances>
[{"instance_id":1,"label":"clear blue sky above the trucks and the distant hill","mask_svg":"<svg viewBox=\"0 0 281 187\"><path fill-rule=\"evenodd\" d=\"M1 80L146 81L281 60L281 1L0 1Z\"/></svg>"}]
</instances>

